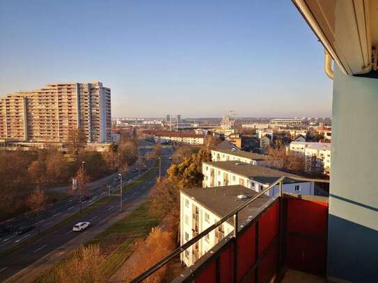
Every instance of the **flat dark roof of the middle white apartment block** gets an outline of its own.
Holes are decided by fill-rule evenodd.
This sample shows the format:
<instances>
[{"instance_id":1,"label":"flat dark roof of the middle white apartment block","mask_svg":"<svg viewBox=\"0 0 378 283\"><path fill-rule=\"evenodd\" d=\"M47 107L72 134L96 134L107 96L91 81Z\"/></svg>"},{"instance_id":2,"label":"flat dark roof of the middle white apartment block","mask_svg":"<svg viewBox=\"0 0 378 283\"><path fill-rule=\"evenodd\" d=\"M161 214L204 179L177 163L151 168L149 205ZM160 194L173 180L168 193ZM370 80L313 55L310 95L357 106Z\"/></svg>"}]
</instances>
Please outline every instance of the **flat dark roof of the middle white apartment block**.
<instances>
[{"instance_id":1,"label":"flat dark roof of the middle white apartment block","mask_svg":"<svg viewBox=\"0 0 378 283\"><path fill-rule=\"evenodd\" d=\"M235 174L242 175L244 177L253 179L255 181L258 181L259 183L267 185L273 183L274 181L276 181L276 179L283 176L288 177L283 180L284 184L301 182L296 181L294 179L290 179L290 177L303 178L301 176L290 174L287 172L282 172L258 165L251 165L249 163L244 163L240 161L210 161L203 163L212 165L222 170L226 170L228 172L233 172Z\"/></svg>"}]
</instances>

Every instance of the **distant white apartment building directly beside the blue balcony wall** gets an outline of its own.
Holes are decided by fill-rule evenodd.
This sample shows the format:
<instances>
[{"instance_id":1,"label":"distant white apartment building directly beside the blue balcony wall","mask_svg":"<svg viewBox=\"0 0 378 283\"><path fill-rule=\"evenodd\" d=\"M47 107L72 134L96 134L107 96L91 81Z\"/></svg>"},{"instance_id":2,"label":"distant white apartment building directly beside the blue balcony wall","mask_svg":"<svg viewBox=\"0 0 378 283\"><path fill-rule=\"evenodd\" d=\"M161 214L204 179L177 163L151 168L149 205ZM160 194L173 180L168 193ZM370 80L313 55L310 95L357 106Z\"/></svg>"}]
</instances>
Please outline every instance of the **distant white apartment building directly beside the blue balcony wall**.
<instances>
[{"instance_id":1,"label":"distant white apartment building directly beside the blue balcony wall","mask_svg":"<svg viewBox=\"0 0 378 283\"><path fill-rule=\"evenodd\" d=\"M290 152L305 156L307 172L323 172L329 174L331 168L331 143L290 143Z\"/></svg>"}]
</instances>

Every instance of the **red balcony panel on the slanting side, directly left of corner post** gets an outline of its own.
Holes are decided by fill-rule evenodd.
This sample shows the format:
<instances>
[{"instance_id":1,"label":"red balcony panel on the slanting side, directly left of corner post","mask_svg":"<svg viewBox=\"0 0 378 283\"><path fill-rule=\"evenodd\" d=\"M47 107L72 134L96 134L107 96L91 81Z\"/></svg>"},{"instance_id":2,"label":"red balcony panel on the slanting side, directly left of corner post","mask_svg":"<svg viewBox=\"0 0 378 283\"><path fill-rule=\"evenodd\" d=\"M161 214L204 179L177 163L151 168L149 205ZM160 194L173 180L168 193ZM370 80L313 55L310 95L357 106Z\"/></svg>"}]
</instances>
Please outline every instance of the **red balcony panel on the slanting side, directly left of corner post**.
<instances>
[{"instance_id":1,"label":"red balcony panel on the slanting side, directly left of corner post","mask_svg":"<svg viewBox=\"0 0 378 283\"><path fill-rule=\"evenodd\" d=\"M278 234L278 202L272 205L271 208L260 217L258 222L258 254L260 256Z\"/></svg>"}]
</instances>

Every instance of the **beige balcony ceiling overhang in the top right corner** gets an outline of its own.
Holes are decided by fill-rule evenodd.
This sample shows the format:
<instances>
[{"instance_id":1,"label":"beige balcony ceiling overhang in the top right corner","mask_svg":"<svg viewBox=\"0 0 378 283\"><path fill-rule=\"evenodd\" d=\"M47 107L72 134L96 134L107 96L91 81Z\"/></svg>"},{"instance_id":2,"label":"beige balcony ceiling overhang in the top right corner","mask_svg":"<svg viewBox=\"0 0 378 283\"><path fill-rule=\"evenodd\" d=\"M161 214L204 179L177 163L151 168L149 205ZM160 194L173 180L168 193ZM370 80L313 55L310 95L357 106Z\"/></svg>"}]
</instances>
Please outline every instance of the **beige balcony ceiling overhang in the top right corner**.
<instances>
[{"instance_id":1,"label":"beige balcony ceiling overhang in the top right corner","mask_svg":"<svg viewBox=\"0 0 378 283\"><path fill-rule=\"evenodd\" d=\"M378 0L292 1L343 72L376 70Z\"/></svg>"}]
</instances>

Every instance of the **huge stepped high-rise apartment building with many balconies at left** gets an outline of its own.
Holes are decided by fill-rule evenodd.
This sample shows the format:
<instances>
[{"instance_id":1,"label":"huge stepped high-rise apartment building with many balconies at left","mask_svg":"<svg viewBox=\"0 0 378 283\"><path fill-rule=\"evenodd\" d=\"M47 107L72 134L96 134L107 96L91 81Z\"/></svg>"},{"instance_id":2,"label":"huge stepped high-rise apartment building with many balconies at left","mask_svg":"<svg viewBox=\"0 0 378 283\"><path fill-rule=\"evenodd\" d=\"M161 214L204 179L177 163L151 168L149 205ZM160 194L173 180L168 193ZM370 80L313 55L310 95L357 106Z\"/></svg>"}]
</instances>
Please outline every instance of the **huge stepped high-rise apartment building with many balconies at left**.
<instances>
[{"instance_id":1,"label":"huge stepped high-rise apartment building with many balconies at left","mask_svg":"<svg viewBox=\"0 0 378 283\"><path fill-rule=\"evenodd\" d=\"M111 93L100 81L52 83L0 98L0 138L64 143L79 127L88 143L111 141Z\"/></svg>"}]
</instances>

